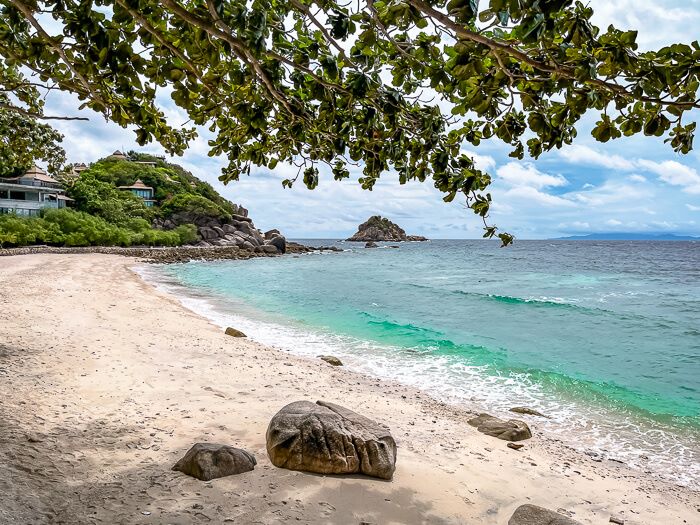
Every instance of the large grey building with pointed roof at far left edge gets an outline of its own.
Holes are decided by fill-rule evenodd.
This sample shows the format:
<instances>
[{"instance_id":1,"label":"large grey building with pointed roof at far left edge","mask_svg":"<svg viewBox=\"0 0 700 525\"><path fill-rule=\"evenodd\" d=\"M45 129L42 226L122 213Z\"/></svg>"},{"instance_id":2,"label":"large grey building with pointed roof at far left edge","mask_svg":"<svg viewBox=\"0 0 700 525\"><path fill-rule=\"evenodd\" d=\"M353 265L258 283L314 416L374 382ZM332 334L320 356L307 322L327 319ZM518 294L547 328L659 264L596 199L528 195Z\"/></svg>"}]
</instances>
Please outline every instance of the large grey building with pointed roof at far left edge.
<instances>
[{"instance_id":1,"label":"large grey building with pointed roof at far left edge","mask_svg":"<svg viewBox=\"0 0 700 525\"><path fill-rule=\"evenodd\" d=\"M0 179L0 213L39 215L44 208L64 208L70 201L61 184L34 165L21 177Z\"/></svg>"}]
</instances>

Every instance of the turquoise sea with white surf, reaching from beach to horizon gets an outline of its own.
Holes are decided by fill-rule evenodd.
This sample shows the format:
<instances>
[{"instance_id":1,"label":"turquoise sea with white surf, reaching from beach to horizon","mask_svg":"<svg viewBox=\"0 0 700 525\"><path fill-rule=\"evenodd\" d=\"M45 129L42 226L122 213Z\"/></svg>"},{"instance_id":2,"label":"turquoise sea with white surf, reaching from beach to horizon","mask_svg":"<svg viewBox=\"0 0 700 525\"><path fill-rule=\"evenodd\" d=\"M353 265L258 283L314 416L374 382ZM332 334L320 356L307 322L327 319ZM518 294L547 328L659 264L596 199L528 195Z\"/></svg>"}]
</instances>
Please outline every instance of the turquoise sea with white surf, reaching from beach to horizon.
<instances>
[{"instance_id":1,"label":"turquoise sea with white surf, reaching from beach to horizon","mask_svg":"<svg viewBox=\"0 0 700 525\"><path fill-rule=\"evenodd\" d=\"M536 408L538 432L700 482L700 243L390 245L143 272L263 343L469 408Z\"/></svg>"}]
</instances>

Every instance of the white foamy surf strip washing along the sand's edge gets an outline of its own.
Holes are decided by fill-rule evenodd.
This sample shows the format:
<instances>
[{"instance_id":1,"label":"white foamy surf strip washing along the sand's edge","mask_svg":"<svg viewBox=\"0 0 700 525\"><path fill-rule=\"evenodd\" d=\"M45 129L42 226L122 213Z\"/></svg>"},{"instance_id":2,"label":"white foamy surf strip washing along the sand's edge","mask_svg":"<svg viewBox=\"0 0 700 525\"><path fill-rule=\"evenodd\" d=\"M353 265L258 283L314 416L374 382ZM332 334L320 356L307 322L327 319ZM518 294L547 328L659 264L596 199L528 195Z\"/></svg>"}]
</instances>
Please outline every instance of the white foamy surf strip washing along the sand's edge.
<instances>
[{"instance_id":1,"label":"white foamy surf strip washing along the sand's edge","mask_svg":"<svg viewBox=\"0 0 700 525\"><path fill-rule=\"evenodd\" d=\"M413 386L436 399L475 411L512 417L509 409L514 406L534 408L550 419L533 418L528 423L574 449L622 461L680 485L700 483L700 450L694 441L697 435L682 436L631 414L621 417L619 412L601 405L553 399L525 374L494 375L459 356L435 355L426 348L381 345L287 319L270 320L270 314L245 303L185 287L159 272L158 267L139 267L136 271L188 309L222 328L233 325L266 346L308 358L332 354L350 370Z\"/></svg>"}]
</instances>

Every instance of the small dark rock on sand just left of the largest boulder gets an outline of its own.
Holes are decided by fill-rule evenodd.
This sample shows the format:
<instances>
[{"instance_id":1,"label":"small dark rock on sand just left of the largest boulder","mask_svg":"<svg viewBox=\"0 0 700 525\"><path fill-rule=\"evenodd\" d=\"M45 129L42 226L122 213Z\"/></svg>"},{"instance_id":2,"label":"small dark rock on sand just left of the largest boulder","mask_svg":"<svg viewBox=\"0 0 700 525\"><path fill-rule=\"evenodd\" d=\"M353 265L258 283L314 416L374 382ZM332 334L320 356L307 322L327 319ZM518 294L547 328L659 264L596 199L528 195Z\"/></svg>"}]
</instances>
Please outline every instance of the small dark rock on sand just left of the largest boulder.
<instances>
[{"instance_id":1,"label":"small dark rock on sand just left of the largest boulder","mask_svg":"<svg viewBox=\"0 0 700 525\"><path fill-rule=\"evenodd\" d=\"M172 470L209 481L249 472L255 468L255 464L255 457L243 449L214 443L196 443L175 463Z\"/></svg>"}]
</instances>

